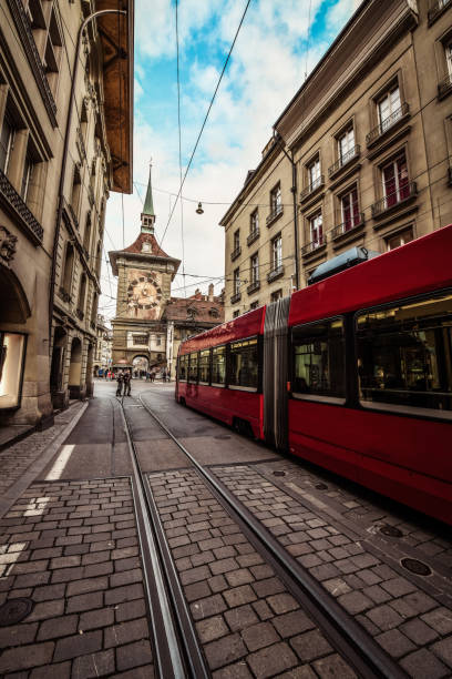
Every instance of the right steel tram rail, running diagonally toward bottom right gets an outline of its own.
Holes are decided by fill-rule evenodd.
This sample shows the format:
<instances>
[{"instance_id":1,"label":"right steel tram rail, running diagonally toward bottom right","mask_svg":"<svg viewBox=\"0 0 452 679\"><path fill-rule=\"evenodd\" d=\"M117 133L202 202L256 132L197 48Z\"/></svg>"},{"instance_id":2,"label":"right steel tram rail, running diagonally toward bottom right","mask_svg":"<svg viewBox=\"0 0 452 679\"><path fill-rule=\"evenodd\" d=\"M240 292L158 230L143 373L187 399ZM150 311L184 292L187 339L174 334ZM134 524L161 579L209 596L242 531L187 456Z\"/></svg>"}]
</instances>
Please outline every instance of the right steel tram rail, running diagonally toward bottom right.
<instances>
[{"instance_id":1,"label":"right steel tram rail, running diagonally toward bottom right","mask_svg":"<svg viewBox=\"0 0 452 679\"><path fill-rule=\"evenodd\" d=\"M319 582L281 548L275 537L258 521L243 504L209 470L204 468L155 415L140 395L140 402L162 429L188 457L198 475L227 505L229 511L240 519L248 533L256 536L271 560L279 565L279 571L287 574L302 594L304 605L320 629L329 637L337 650L349 660L366 679L408 679L405 671L373 640L373 638L350 617L337 601L325 591ZM288 578L286 575L286 584Z\"/></svg>"}]
</instances>

